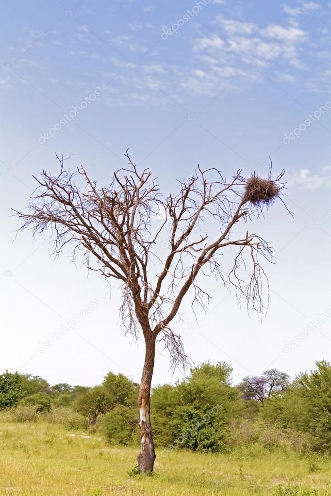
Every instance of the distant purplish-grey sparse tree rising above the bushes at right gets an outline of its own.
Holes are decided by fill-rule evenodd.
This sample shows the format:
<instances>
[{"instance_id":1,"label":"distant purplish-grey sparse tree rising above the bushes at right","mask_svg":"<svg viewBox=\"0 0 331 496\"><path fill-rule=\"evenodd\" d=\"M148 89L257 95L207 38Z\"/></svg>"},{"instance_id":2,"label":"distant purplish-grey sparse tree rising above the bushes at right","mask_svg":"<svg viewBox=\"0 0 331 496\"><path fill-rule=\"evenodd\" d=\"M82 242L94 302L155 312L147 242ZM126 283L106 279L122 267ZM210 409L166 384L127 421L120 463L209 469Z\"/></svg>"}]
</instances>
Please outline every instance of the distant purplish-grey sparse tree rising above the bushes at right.
<instances>
[{"instance_id":1,"label":"distant purplish-grey sparse tree rising above the bushes at right","mask_svg":"<svg viewBox=\"0 0 331 496\"><path fill-rule=\"evenodd\" d=\"M260 376L244 377L238 388L244 399L255 399L264 405L266 399L285 391L289 383L290 377L285 372L270 369Z\"/></svg>"}]
</instances>

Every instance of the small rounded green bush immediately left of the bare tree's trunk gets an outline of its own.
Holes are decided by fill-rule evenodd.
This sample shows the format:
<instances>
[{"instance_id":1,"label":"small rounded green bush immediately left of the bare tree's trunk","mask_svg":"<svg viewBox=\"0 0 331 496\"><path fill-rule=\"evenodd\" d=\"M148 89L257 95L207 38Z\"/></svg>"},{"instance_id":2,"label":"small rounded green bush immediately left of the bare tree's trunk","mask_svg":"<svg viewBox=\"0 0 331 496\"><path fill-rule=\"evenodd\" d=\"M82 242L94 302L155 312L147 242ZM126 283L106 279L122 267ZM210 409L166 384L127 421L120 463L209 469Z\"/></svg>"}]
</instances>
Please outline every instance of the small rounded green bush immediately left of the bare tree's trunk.
<instances>
[{"instance_id":1,"label":"small rounded green bush immediately left of the bare tree's trunk","mask_svg":"<svg viewBox=\"0 0 331 496\"><path fill-rule=\"evenodd\" d=\"M136 444L139 439L136 409L115 406L104 416L103 428L107 440L112 444Z\"/></svg>"}]
</instances>

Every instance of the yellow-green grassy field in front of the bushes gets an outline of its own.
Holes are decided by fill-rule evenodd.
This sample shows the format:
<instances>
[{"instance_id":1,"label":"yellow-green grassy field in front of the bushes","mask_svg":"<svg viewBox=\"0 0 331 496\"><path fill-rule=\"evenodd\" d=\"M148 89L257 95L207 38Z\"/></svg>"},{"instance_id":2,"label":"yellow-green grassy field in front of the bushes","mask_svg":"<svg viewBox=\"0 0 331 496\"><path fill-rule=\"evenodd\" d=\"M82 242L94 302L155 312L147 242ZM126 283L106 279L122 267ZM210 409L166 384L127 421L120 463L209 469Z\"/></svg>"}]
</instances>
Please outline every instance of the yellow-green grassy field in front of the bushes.
<instances>
[{"instance_id":1,"label":"yellow-green grassy field in front of the bushes","mask_svg":"<svg viewBox=\"0 0 331 496\"><path fill-rule=\"evenodd\" d=\"M331 496L327 457L259 447L217 456L171 452L157 458L148 477L130 475L136 454L110 447L97 434L0 423L0 495Z\"/></svg>"}]
</instances>

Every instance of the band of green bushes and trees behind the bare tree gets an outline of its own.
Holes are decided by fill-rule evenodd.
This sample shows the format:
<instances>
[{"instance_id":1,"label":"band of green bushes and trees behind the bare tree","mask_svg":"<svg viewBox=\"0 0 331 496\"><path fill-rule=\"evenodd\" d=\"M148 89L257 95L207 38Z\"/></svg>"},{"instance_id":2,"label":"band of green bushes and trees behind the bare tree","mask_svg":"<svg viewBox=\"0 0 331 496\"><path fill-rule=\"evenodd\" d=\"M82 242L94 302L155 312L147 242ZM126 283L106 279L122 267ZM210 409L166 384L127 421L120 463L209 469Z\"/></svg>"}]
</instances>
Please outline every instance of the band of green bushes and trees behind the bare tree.
<instances>
[{"instance_id":1,"label":"band of green bushes and trees behind the bare tree","mask_svg":"<svg viewBox=\"0 0 331 496\"><path fill-rule=\"evenodd\" d=\"M316 363L291 381L276 369L231 383L232 367L193 368L186 380L152 390L155 443L172 449L226 452L248 445L266 449L331 451L331 364ZM138 442L138 384L109 372L94 387L51 386L39 376L0 375L2 420L63 424L102 431L110 443Z\"/></svg>"}]
</instances>

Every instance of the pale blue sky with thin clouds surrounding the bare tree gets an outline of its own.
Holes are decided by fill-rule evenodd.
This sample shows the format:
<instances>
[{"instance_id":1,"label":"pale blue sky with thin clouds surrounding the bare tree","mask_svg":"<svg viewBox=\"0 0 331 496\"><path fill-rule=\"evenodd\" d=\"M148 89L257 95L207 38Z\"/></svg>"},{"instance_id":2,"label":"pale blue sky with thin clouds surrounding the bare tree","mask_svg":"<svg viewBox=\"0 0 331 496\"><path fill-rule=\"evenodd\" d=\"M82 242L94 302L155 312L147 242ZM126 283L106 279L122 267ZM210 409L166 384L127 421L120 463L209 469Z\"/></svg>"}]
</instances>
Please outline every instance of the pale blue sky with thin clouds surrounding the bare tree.
<instances>
[{"instance_id":1,"label":"pale blue sky with thin clouds surrounding the bare tree","mask_svg":"<svg viewBox=\"0 0 331 496\"><path fill-rule=\"evenodd\" d=\"M294 222L278 203L252 227L275 249L267 315L250 319L208 281L208 313L196 323L186 305L178 324L192 360L228 361L238 382L330 358L330 2L13 1L2 19L1 370L52 383L94 384L108 370L139 379L141 344L124 337L116 289L110 299L97 275L54 262L47 239L12 243L9 217L24 209L32 174L57 170L56 152L102 184L128 147L166 193L198 163L263 175L271 156L287 171ZM75 328L40 352L72 314ZM155 383L180 377L159 352Z\"/></svg>"}]
</instances>

